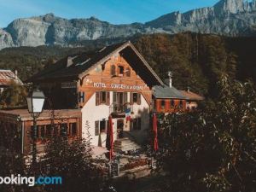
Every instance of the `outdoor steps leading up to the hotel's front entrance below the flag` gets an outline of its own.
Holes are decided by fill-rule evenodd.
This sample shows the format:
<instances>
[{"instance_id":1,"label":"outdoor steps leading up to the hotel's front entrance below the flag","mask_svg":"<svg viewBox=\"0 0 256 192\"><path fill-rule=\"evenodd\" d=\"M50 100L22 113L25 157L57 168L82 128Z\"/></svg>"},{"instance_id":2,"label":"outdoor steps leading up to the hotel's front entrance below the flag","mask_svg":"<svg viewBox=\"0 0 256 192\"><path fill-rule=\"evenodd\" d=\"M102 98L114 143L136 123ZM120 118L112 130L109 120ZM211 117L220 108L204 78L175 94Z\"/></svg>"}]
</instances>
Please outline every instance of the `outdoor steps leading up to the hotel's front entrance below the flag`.
<instances>
[{"instance_id":1,"label":"outdoor steps leading up to the hotel's front entrance below the flag","mask_svg":"<svg viewBox=\"0 0 256 192\"><path fill-rule=\"evenodd\" d=\"M137 145L137 143L132 142L128 137L117 139L113 143L113 150L115 152L127 152L139 148L140 146Z\"/></svg>"}]
</instances>

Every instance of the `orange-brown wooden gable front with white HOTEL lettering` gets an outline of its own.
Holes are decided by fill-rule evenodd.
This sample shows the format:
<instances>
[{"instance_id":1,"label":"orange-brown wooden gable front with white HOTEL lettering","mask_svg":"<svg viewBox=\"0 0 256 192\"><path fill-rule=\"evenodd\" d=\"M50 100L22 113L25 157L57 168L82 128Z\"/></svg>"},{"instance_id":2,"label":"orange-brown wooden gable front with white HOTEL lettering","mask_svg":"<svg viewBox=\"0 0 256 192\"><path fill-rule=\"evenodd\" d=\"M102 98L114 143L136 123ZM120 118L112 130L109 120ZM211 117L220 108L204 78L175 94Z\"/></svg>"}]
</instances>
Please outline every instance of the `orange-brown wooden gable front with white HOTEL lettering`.
<instances>
[{"instance_id":1,"label":"orange-brown wooden gable front with white HOTEL lettering","mask_svg":"<svg viewBox=\"0 0 256 192\"><path fill-rule=\"evenodd\" d=\"M115 69L114 73L112 67ZM120 73L119 67L123 67L123 73ZM80 80L79 92L86 93L84 102L79 103L80 106L84 106L90 97L99 90L139 92L148 103L151 102L151 90L148 85L119 53L111 56L103 66L98 64L91 68L87 75Z\"/></svg>"}]
</instances>

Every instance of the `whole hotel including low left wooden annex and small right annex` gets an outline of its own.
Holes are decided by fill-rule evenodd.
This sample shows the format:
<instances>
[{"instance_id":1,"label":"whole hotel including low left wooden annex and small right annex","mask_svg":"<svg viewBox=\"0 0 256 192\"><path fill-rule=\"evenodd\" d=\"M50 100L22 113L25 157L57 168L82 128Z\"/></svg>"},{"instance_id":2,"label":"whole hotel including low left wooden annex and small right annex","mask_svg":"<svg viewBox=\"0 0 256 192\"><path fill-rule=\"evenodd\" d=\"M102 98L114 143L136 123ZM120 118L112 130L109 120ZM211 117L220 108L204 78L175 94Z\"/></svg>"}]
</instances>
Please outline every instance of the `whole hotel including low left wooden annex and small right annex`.
<instances>
[{"instance_id":1,"label":"whole hotel including low left wooden annex and small right annex","mask_svg":"<svg viewBox=\"0 0 256 192\"><path fill-rule=\"evenodd\" d=\"M172 86L171 76L164 84L131 42L92 54L69 55L27 82L47 97L38 118L38 151L52 136L90 137L91 145L105 147L109 116L114 141L127 137L142 144L149 133L150 112L186 109L186 96ZM57 115L50 115L53 111ZM0 111L0 128L7 124L19 132L19 148L28 154L32 118L27 110ZM50 124L56 131L49 131Z\"/></svg>"}]
</instances>

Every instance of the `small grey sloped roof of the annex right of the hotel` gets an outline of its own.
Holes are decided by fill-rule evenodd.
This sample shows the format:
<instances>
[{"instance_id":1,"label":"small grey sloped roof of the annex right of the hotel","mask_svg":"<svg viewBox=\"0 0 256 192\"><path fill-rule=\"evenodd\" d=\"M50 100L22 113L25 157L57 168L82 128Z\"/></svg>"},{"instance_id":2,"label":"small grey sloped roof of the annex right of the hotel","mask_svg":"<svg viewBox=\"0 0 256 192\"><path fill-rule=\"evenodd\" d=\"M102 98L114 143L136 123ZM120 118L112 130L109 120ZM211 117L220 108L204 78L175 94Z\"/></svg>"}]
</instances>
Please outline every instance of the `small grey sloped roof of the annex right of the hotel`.
<instances>
[{"instance_id":1,"label":"small grey sloped roof of the annex right of the hotel","mask_svg":"<svg viewBox=\"0 0 256 192\"><path fill-rule=\"evenodd\" d=\"M157 99L186 99L175 87L166 84L154 86L153 96Z\"/></svg>"}]
</instances>

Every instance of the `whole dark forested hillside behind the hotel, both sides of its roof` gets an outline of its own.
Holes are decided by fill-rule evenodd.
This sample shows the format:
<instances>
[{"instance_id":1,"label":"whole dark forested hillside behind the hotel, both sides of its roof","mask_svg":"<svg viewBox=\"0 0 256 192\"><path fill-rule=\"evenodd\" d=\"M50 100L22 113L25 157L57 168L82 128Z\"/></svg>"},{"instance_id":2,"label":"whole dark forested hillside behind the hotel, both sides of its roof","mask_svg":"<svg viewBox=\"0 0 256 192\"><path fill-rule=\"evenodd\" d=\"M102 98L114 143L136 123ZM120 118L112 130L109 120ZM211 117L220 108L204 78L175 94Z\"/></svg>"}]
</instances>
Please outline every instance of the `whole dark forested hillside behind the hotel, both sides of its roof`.
<instances>
[{"instance_id":1,"label":"whole dark forested hillside behind the hotel, both sides of its roof","mask_svg":"<svg viewBox=\"0 0 256 192\"><path fill-rule=\"evenodd\" d=\"M256 81L256 38L225 38L216 35L180 33L154 34L132 39L161 79L166 72L174 74L178 89L192 90L214 96L215 82L222 73L230 78ZM0 68L17 69L22 80L42 70L45 65L66 55L89 52L108 42L88 41L83 47L61 48L40 46L20 47L0 51Z\"/></svg>"}]
</instances>

